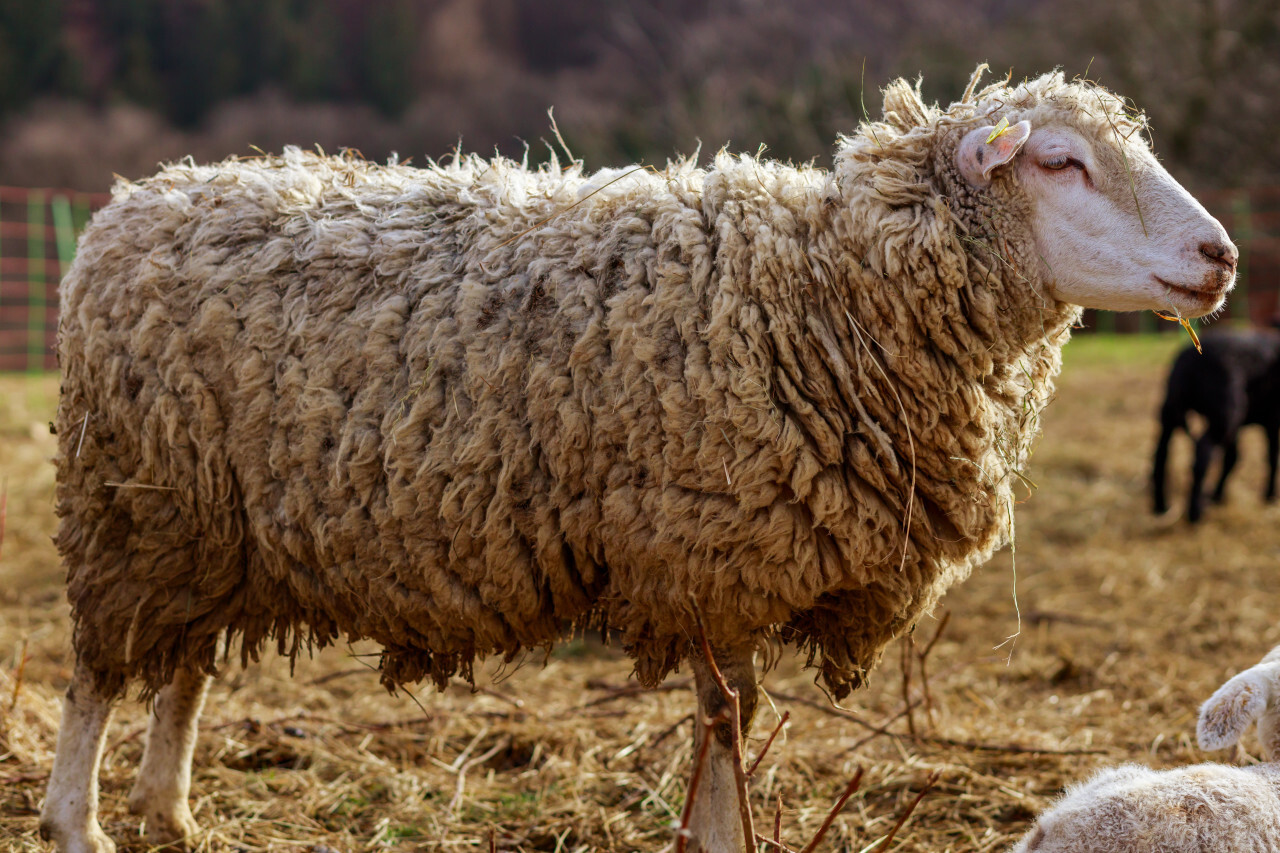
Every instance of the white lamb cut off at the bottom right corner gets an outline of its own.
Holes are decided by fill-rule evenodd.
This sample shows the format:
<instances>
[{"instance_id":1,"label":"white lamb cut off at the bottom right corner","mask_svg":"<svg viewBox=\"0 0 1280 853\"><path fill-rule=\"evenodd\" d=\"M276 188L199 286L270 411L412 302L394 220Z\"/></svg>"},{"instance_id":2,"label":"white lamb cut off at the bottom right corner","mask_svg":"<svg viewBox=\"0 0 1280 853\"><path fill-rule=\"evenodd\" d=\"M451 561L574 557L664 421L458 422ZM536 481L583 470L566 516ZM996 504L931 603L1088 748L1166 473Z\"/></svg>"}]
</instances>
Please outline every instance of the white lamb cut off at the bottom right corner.
<instances>
[{"instance_id":1,"label":"white lamb cut off at the bottom right corner","mask_svg":"<svg viewBox=\"0 0 1280 853\"><path fill-rule=\"evenodd\" d=\"M1201 707L1196 734L1202 749L1224 749L1254 722L1267 763L1102 770L1069 788L1011 853L1280 850L1280 647Z\"/></svg>"}]
</instances>

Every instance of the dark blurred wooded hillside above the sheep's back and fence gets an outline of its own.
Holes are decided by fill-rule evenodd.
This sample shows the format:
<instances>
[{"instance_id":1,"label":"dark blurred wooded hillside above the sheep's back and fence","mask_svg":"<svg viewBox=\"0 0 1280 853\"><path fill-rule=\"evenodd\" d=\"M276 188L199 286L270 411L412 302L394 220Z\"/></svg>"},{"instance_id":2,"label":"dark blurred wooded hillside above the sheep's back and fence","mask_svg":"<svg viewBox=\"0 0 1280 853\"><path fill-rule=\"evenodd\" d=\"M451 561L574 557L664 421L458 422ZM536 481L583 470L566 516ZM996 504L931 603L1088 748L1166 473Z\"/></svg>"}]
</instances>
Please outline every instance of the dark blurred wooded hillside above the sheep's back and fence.
<instances>
[{"instance_id":1,"label":"dark blurred wooded hillside above the sheep's back and fence","mask_svg":"<svg viewBox=\"0 0 1280 853\"><path fill-rule=\"evenodd\" d=\"M924 74L1088 74L1193 187L1280 183L1276 0L0 0L0 184L102 190L285 143L589 168L728 142L822 163Z\"/></svg>"}]
</instances>

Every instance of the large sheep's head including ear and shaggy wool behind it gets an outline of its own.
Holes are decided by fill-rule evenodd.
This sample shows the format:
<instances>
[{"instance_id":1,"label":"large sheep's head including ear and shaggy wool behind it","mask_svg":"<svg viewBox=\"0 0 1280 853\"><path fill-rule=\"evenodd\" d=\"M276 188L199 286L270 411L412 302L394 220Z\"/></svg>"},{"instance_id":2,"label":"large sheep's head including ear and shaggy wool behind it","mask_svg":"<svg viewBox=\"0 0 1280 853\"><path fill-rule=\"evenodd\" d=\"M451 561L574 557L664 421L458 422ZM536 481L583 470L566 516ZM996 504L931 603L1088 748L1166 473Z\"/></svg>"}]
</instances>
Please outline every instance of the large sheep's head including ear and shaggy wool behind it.
<instances>
[{"instance_id":1,"label":"large sheep's head including ear and shaggy wool behind it","mask_svg":"<svg viewBox=\"0 0 1280 853\"><path fill-rule=\"evenodd\" d=\"M837 186L873 211L860 215L876 272L893 273L899 234L919 237L941 202L979 265L1059 304L1183 318L1222 306L1235 246L1155 158L1140 113L1060 72L979 91L983 70L946 109L895 81L884 118L841 140Z\"/></svg>"}]
</instances>

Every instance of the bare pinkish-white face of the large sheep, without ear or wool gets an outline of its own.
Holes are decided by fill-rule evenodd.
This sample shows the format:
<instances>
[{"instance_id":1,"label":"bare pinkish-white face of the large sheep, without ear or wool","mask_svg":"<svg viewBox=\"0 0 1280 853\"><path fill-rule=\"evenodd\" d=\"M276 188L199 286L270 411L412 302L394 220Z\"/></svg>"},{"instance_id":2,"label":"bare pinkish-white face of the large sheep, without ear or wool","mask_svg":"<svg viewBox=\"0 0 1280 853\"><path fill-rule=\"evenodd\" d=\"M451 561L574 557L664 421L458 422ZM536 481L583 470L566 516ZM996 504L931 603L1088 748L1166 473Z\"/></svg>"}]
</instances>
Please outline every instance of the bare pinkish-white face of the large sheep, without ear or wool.
<instances>
[{"instance_id":1,"label":"bare pinkish-white face of the large sheep, without ear or wool","mask_svg":"<svg viewBox=\"0 0 1280 853\"><path fill-rule=\"evenodd\" d=\"M1156 160L1140 132L1033 128L1012 167L1059 300L1202 316L1235 283L1226 231Z\"/></svg>"}]
</instances>

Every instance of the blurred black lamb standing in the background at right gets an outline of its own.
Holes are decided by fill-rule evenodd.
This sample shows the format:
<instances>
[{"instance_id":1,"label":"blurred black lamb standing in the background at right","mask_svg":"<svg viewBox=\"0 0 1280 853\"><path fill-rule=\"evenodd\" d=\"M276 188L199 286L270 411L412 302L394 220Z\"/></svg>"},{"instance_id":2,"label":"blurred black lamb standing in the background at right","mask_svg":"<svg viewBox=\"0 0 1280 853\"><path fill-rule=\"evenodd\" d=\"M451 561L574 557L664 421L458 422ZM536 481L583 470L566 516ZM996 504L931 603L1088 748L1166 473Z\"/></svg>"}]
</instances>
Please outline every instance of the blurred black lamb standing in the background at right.
<instances>
[{"instance_id":1,"label":"blurred black lamb standing in the background at right","mask_svg":"<svg viewBox=\"0 0 1280 853\"><path fill-rule=\"evenodd\" d=\"M1165 497L1165 467L1169 439L1187 430L1187 412L1204 416L1208 425L1196 438L1196 462L1187 519L1199 521L1204 512L1204 475L1215 450L1222 448L1222 470L1213 489L1213 502L1222 501L1226 478L1239 456L1240 426L1258 424L1267 432L1266 500L1276 496L1276 457L1280 455L1280 332L1274 329L1221 330L1206 334L1204 352L1187 347L1169 371L1165 403L1160 409L1160 442L1152 473L1155 510L1169 508Z\"/></svg>"}]
</instances>

